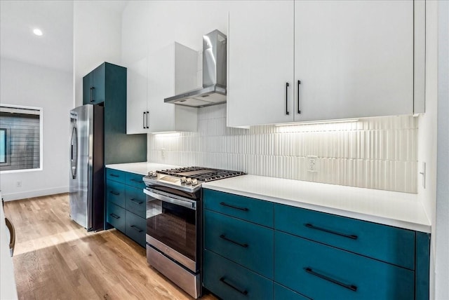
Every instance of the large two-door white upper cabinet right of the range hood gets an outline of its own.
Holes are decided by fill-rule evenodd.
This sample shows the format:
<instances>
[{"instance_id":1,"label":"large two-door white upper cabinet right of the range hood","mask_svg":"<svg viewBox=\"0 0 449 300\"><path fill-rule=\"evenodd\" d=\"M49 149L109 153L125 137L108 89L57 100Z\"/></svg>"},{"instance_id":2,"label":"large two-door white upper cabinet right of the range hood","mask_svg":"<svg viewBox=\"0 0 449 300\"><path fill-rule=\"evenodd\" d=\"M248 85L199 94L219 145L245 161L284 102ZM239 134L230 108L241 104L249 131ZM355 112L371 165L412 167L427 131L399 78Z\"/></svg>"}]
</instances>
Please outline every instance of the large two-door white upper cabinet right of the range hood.
<instances>
[{"instance_id":1,"label":"large two-door white upper cabinet right of the range hood","mask_svg":"<svg viewBox=\"0 0 449 300\"><path fill-rule=\"evenodd\" d=\"M257 1L230 11L228 125L417 112L413 6Z\"/></svg>"}]
</instances>

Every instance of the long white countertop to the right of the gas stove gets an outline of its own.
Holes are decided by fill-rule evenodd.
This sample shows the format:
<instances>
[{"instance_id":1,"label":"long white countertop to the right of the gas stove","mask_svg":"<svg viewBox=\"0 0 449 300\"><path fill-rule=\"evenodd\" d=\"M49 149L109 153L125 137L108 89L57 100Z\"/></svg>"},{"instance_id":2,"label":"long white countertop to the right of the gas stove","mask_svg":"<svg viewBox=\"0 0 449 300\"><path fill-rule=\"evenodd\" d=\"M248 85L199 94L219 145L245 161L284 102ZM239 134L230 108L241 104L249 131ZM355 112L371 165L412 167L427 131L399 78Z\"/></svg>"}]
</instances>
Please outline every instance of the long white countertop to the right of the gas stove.
<instances>
[{"instance_id":1,"label":"long white countertop to the right of the gas stove","mask_svg":"<svg viewBox=\"0 0 449 300\"><path fill-rule=\"evenodd\" d=\"M243 175L203 188L234 193L379 224L431 232L431 224L416 194L293 179Z\"/></svg>"}]
</instances>

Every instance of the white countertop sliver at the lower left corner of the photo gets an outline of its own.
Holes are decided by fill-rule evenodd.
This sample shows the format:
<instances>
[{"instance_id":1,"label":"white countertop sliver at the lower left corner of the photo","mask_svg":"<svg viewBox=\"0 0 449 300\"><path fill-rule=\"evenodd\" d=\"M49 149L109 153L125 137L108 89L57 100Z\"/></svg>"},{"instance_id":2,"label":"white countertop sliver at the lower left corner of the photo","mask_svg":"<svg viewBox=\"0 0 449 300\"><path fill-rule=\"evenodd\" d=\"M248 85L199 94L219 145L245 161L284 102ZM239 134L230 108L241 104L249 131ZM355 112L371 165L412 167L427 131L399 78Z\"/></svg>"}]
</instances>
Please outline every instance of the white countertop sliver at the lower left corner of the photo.
<instances>
[{"instance_id":1,"label":"white countertop sliver at the lower left corner of the photo","mask_svg":"<svg viewBox=\"0 0 449 300\"><path fill-rule=\"evenodd\" d=\"M0 193L1 199L1 193ZM18 299L15 287L13 258L9 252L9 231L6 227L3 205L0 203L0 299Z\"/></svg>"}]
</instances>

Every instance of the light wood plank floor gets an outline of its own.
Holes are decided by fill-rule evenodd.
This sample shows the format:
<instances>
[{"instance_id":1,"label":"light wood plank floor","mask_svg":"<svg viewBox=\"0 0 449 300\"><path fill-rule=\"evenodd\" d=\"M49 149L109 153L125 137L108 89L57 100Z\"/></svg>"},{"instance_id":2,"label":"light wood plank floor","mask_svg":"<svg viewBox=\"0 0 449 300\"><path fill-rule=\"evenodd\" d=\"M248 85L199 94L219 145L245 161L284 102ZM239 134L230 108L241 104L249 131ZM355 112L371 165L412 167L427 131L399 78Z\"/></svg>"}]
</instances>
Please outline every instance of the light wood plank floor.
<instances>
[{"instance_id":1,"label":"light wood plank floor","mask_svg":"<svg viewBox=\"0 0 449 300\"><path fill-rule=\"evenodd\" d=\"M192 299L119 231L88 233L70 220L67 194L9 201L4 210L17 235L19 299Z\"/></svg>"}]
</instances>

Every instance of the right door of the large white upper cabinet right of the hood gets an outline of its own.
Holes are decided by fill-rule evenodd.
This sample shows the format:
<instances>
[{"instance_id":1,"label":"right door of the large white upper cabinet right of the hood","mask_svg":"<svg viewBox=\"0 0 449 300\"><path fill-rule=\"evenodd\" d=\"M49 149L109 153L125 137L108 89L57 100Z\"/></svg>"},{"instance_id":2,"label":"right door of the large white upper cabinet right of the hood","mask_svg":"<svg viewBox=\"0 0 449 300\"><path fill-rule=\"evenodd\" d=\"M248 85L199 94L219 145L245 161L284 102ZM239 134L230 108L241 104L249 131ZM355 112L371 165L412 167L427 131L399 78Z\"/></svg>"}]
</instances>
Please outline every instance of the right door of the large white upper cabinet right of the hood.
<instances>
[{"instance_id":1,"label":"right door of the large white upper cabinet right of the hood","mask_svg":"<svg viewBox=\"0 0 449 300\"><path fill-rule=\"evenodd\" d=\"M295 1L295 106L295 121L413 114L413 1Z\"/></svg>"}]
</instances>

